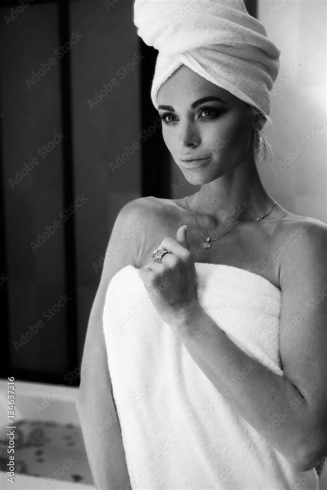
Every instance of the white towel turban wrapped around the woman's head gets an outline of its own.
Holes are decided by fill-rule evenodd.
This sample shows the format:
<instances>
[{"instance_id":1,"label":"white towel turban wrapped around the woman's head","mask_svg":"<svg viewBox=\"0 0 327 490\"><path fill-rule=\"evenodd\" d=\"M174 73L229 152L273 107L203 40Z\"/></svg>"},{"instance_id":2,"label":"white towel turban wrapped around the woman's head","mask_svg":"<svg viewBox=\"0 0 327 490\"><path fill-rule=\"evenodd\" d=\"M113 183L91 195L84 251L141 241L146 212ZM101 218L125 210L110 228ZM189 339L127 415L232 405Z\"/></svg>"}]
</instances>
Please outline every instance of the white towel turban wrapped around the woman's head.
<instances>
[{"instance_id":1,"label":"white towel turban wrapped around the woman's head","mask_svg":"<svg viewBox=\"0 0 327 490\"><path fill-rule=\"evenodd\" d=\"M135 0L137 34L159 53L151 99L182 64L267 119L280 51L243 0Z\"/></svg>"}]
</instances>

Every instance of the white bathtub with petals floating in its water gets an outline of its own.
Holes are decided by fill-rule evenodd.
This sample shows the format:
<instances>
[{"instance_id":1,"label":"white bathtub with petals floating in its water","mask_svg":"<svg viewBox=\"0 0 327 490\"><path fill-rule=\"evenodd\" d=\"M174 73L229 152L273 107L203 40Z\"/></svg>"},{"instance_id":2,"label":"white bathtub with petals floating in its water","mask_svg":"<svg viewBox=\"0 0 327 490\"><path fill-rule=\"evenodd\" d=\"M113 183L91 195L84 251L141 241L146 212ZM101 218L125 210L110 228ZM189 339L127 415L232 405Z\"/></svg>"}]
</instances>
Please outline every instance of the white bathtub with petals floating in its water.
<instances>
[{"instance_id":1,"label":"white bathtub with petals floating in its water","mask_svg":"<svg viewBox=\"0 0 327 490\"><path fill-rule=\"evenodd\" d=\"M81 439L79 418L75 407L77 388L74 386L63 386L61 384L41 384L15 380L12 383L14 390L12 390L13 386L10 386L11 389L8 391L8 383L10 385L8 380L0 380L1 490L95 490L86 458L85 447ZM15 413L14 420L8 420L8 394L12 395L12 391L14 391L14 398L11 396L11 399L14 400ZM10 401L10 408L12 408L12 404L13 402ZM16 429L11 429L12 426L16 427ZM31 427L32 431L30 430ZM10 453L8 453L8 449L4 448L3 434L7 436L6 431L8 431L8 434L12 434L6 437L6 442L8 440L8 444L12 444L8 446ZM52 438L49 437L50 431L52 431ZM30 439L25 443L24 437L26 433L28 435L31 433L34 434L34 439ZM62 436L64 439L62 444L66 444L67 446L64 448L64 451L70 451L68 454L74 455L74 458L62 458L62 464L58 464L61 451L60 446L55 447L52 444L52 447L50 447L51 441L54 438L59 438L60 434L66 434ZM18 440L9 442L9 439L17 439L17 435L19 435ZM43 442L40 439L42 437ZM74 440L74 437L76 440ZM25 465L21 452L19 453L17 448L14 447L14 444L19 447L19 438L20 441L23 441L21 442L21 446L25 444L23 451L25 451L26 458L35 458L38 461L35 464L38 464L39 467L41 467L42 463L43 473L46 473L46 476L24 474L23 468L27 467L27 465ZM50 444L44 441L50 441ZM53 447L57 448L57 459L53 459L52 463L52 458L49 457L49 454L54 454ZM8 464L12 464L12 459L9 460L9 456L12 457L12 454L15 456L15 461L21 460L18 462L18 464L21 464L21 467L14 467L14 482L8 481L10 475L4 469L3 455L5 454ZM19 454L19 457L17 454ZM74 475L74 477L79 478L80 481L69 481L68 478L71 478L71 476L68 476L69 472L81 473L79 470L75 471L78 467L79 470L83 467L82 471L84 471L88 478L84 478L84 476L79 474ZM37 471L37 473L40 473L40 471ZM88 480L88 482L86 483L81 480Z\"/></svg>"}]
</instances>

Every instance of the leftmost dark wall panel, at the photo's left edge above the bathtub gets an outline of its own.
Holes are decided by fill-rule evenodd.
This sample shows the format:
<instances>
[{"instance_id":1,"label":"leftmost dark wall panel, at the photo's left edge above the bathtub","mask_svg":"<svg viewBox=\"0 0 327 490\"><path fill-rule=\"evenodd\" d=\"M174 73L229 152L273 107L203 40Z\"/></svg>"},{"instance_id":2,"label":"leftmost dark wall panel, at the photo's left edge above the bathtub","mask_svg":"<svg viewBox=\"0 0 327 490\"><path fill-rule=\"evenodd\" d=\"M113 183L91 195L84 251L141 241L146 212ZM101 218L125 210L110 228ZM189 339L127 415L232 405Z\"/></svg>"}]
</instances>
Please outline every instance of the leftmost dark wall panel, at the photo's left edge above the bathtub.
<instances>
[{"instance_id":1,"label":"leftmost dark wall panel, at the photo's left edge above the bathtub","mask_svg":"<svg viewBox=\"0 0 327 490\"><path fill-rule=\"evenodd\" d=\"M68 369L64 308L54 316L47 311L65 294L63 227L43 243L37 239L63 204L59 64L43 77L33 72L58 46L58 15L50 3L14 21L6 22L10 8L0 13L8 350L12 369L55 373Z\"/></svg>"}]
</instances>

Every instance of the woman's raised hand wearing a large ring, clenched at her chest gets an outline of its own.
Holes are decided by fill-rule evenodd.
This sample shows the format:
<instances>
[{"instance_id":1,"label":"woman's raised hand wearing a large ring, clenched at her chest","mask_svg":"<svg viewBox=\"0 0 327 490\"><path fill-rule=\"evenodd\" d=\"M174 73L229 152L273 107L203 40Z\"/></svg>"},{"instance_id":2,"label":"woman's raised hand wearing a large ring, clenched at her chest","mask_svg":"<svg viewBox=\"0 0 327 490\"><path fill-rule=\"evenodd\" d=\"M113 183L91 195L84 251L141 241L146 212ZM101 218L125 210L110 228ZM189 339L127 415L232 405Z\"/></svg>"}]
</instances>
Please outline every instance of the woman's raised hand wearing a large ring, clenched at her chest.
<instances>
[{"instance_id":1,"label":"woman's raised hand wearing a large ring, clenched at her chest","mask_svg":"<svg viewBox=\"0 0 327 490\"><path fill-rule=\"evenodd\" d=\"M155 309L170 326L177 326L184 315L199 308L195 296L195 264L190 253L186 226L177 230L176 240L166 237L157 248L167 248L159 262L148 262L139 269L150 300Z\"/></svg>"}]
</instances>

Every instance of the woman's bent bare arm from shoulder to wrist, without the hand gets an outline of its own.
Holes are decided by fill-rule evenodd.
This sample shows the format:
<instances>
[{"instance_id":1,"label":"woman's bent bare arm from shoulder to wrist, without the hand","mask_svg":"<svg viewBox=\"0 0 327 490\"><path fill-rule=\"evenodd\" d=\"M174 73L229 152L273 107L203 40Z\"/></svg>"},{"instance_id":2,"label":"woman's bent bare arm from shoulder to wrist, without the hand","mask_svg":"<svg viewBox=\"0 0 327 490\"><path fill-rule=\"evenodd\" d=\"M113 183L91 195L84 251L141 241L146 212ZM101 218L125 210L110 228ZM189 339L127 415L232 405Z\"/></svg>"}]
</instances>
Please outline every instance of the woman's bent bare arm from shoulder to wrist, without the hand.
<instances>
[{"instance_id":1,"label":"woman's bent bare arm from shoulder to wrist, without the hand","mask_svg":"<svg viewBox=\"0 0 327 490\"><path fill-rule=\"evenodd\" d=\"M283 376L241 351L200 306L172 322L212 384L299 471L327 453L326 249L327 227L311 222L282 257Z\"/></svg>"}]
</instances>

